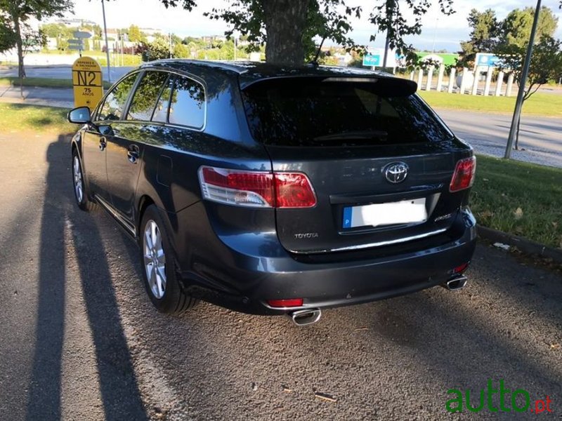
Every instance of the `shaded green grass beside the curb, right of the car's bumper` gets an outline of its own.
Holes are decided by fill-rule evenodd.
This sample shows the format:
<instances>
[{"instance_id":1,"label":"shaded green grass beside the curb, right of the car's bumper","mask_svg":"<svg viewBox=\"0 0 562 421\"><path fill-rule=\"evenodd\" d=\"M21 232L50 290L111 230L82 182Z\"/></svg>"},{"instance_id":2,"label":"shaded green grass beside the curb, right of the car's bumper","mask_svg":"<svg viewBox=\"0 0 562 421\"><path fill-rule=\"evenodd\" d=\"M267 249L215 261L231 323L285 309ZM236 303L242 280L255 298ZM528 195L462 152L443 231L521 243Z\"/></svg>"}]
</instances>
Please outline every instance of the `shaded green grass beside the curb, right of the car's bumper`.
<instances>
[{"instance_id":1,"label":"shaded green grass beside the curb, right of the car's bumper","mask_svg":"<svg viewBox=\"0 0 562 421\"><path fill-rule=\"evenodd\" d=\"M562 170L478 156L471 208L480 225L562 248Z\"/></svg>"}]
</instances>

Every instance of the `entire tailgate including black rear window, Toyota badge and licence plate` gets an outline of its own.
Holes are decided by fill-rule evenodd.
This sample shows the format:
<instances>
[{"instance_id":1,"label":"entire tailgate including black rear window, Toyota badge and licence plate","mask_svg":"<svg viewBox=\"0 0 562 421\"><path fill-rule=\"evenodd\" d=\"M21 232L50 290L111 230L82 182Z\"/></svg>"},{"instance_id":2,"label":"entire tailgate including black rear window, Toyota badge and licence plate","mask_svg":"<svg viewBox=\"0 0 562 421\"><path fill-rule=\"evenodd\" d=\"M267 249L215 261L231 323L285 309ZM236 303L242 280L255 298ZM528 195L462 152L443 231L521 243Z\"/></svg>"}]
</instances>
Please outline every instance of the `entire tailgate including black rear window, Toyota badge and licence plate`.
<instances>
[{"instance_id":1,"label":"entire tailgate including black rear window, Toyota badge and licence plate","mask_svg":"<svg viewBox=\"0 0 562 421\"><path fill-rule=\"evenodd\" d=\"M472 154L401 79L285 78L244 90L248 121L273 171L307 175L317 203L278 208L295 253L353 250L445 232L466 201L450 193Z\"/></svg>"}]
</instances>

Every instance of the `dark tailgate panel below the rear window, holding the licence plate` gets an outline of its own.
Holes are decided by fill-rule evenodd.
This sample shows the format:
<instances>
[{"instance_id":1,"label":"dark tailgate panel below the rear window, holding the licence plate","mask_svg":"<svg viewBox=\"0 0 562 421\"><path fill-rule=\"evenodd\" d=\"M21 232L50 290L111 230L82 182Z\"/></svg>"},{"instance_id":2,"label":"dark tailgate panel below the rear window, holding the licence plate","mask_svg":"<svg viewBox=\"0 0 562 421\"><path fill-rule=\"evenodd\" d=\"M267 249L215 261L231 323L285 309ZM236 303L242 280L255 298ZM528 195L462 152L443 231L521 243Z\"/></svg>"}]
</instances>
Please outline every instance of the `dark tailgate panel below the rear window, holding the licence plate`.
<instances>
[{"instance_id":1,"label":"dark tailgate panel below the rear window, holding the licence plate","mask_svg":"<svg viewBox=\"0 0 562 421\"><path fill-rule=\"evenodd\" d=\"M466 194L449 192L455 163L462 153L419 156L408 154L407 148L402 154L348 149L334 157L334 151L301 148L296 159L292 148L267 149L274 171L305 173L317 197L313 208L276 210L277 235L282 245L294 252L384 246L438 234L450 227ZM384 174L389 164L397 161L408 167L400 187L388 182ZM387 206L370 206L379 203ZM396 209L394 220L383 215L388 203L393 203L391 211ZM423 214L417 205L423 206ZM383 219L380 225L374 225L377 213ZM445 218L447 215L450 217ZM389 219L394 223L388 223Z\"/></svg>"}]
</instances>

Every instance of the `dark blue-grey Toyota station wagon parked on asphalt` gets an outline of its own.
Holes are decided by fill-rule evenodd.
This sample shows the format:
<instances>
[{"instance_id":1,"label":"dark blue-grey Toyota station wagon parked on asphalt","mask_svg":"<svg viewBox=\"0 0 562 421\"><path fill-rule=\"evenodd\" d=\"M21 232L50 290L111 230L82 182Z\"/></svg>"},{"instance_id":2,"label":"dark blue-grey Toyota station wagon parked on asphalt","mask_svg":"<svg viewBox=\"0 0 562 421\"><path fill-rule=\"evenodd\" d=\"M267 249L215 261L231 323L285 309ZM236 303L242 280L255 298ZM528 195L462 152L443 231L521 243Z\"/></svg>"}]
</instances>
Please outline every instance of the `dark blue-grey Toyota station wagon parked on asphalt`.
<instances>
[{"instance_id":1,"label":"dark blue-grey Toyota station wagon parked on asphalt","mask_svg":"<svg viewBox=\"0 0 562 421\"><path fill-rule=\"evenodd\" d=\"M360 69L150 62L70 112L78 206L138 241L162 312L202 299L303 325L462 288L476 161L415 91Z\"/></svg>"}]
</instances>

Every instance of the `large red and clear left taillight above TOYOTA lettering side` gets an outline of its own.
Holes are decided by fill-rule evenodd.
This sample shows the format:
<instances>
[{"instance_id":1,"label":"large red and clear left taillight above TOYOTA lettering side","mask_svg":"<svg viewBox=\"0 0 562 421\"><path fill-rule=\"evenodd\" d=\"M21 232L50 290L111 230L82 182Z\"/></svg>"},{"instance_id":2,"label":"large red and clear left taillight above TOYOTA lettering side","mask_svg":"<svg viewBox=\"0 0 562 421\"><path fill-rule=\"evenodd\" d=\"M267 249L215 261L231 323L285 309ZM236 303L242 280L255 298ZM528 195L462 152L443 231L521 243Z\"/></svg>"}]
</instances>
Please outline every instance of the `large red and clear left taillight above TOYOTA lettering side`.
<instances>
[{"instance_id":1,"label":"large red and clear left taillight above TOYOTA lettering side","mask_svg":"<svg viewBox=\"0 0 562 421\"><path fill-rule=\"evenodd\" d=\"M316 196L303 173L240 171L202 166L204 199L257 208L311 208Z\"/></svg>"}]
</instances>

